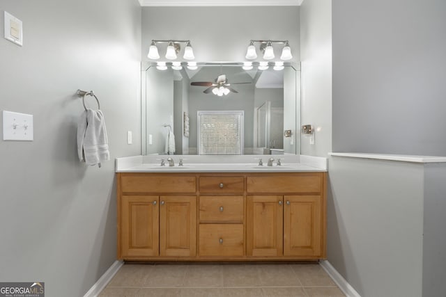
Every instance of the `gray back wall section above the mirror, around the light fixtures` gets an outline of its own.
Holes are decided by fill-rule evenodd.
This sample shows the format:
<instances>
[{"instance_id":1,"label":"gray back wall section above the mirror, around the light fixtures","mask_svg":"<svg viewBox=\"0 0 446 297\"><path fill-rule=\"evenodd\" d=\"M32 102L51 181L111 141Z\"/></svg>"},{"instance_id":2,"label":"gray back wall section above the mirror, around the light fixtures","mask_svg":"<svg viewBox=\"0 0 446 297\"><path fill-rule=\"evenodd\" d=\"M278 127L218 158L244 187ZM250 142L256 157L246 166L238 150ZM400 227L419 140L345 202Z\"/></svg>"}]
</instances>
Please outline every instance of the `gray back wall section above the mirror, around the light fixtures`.
<instances>
[{"instance_id":1,"label":"gray back wall section above the mirror, around the light fixtures","mask_svg":"<svg viewBox=\"0 0 446 297\"><path fill-rule=\"evenodd\" d=\"M289 40L293 61L299 61L298 6L146 7L142 18L141 56L146 60L152 39L189 39L199 62L245 61L249 40L275 39ZM276 56L281 49L275 46ZM164 54L160 45L160 56Z\"/></svg>"}]
</instances>

